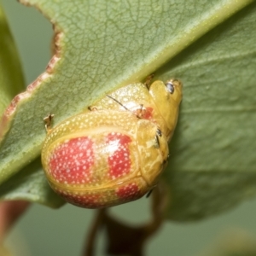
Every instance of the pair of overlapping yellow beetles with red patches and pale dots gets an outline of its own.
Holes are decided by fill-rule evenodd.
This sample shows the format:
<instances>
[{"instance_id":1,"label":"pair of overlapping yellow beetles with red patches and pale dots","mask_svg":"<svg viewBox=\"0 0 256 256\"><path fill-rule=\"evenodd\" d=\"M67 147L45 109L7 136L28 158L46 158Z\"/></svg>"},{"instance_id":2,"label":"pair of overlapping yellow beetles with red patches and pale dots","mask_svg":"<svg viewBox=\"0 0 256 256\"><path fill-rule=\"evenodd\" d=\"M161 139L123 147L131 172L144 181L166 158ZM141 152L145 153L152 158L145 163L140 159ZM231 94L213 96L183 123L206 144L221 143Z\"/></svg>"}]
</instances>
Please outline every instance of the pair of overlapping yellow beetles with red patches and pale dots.
<instances>
[{"instance_id":1,"label":"pair of overlapping yellow beetles with red patches and pale dots","mask_svg":"<svg viewBox=\"0 0 256 256\"><path fill-rule=\"evenodd\" d=\"M178 80L129 84L48 130L42 163L49 185L73 205L112 207L158 183L177 123Z\"/></svg>"}]
</instances>

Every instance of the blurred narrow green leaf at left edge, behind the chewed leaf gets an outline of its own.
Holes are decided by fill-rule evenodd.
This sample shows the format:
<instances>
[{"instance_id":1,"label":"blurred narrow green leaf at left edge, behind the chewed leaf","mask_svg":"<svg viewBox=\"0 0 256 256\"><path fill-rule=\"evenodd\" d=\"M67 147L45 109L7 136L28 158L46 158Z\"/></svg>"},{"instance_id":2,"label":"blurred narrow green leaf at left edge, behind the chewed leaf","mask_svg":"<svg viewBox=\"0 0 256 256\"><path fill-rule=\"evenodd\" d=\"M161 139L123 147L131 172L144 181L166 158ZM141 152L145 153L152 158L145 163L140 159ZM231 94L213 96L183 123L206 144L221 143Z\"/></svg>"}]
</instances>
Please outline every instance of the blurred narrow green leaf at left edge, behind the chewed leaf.
<instances>
[{"instance_id":1,"label":"blurred narrow green leaf at left edge, behind the chewed leaf","mask_svg":"<svg viewBox=\"0 0 256 256\"><path fill-rule=\"evenodd\" d=\"M25 89L20 60L0 6L0 116L12 98ZM1 130L1 128L0 128Z\"/></svg>"}]
</instances>

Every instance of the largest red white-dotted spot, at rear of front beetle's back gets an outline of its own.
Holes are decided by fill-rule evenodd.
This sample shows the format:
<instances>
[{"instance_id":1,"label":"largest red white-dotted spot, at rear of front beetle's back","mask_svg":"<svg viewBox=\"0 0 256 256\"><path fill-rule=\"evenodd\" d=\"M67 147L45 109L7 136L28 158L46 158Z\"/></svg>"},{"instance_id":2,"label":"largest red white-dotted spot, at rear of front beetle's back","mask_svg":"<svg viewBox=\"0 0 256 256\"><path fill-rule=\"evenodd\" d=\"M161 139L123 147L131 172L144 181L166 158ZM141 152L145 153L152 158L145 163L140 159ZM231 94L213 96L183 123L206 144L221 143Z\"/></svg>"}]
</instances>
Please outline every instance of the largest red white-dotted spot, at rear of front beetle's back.
<instances>
[{"instance_id":1,"label":"largest red white-dotted spot, at rear of front beetle's back","mask_svg":"<svg viewBox=\"0 0 256 256\"><path fill-rule=\"evenodd\" d=\"M49 170L60 183L89 183L90 166L93 164L93 142L89 137L77 137L54 149L49 160Z\"/></svg>"}]
</instances>

